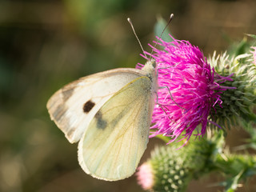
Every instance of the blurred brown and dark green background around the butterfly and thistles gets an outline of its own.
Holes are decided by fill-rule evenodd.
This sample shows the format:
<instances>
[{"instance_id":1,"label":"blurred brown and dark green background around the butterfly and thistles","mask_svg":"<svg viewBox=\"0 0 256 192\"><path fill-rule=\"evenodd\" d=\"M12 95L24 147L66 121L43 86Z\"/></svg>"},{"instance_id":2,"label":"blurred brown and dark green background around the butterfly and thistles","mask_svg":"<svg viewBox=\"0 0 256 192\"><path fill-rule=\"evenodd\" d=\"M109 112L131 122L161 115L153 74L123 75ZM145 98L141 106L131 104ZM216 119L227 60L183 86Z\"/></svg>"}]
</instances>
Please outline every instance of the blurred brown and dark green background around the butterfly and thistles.
<instances>
[{"instance_id":1,"label":"blurred brown and dark green background around the butterfly and thistles","mask_svg":"<svg viewBox=\"0 0 256 192\"><path fill-rule=\"evenodd\" d=\"M104 182L86 175L71 145L50 121L46 102L54 91L82 76L145 62L126 18L145 50L157 18L174 20L174 37L189 40L206 56L221 53L244 34L256 34L254 0L1 0L0 1L0 191L142 191L136 178ZM242 130L228 132L241 144ZM150 150L161 145L150 139ZM217 191L211 175L188 191ZM254 191L247 182L238 191Z\"/></svg>"}]
</instances>

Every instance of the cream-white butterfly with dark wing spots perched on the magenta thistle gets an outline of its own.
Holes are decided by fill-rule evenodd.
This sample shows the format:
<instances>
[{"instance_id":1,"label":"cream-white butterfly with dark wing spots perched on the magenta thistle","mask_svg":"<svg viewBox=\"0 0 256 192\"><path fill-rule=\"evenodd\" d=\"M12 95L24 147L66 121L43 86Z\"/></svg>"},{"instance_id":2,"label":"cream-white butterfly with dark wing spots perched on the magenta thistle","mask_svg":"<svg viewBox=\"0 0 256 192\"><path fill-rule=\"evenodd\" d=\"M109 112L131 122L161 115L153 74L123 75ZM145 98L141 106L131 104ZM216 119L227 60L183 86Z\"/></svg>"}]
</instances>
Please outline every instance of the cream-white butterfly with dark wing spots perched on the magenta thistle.
<instances>
[{"instance_id":1,"label":"cream-white butterfly with dark wing spots perched on the magenta thistle","mask_svg":"<svg viewBox=\"0 0 256 192\"><path fill-rule=\"evenodd\" d=\"M149 138L158 90L155 62L142 70L120 68L91 74L58 90L47 102L50 118L78 161L94 178L116 181L134 174Z\"/></svg>"}]
</instances>

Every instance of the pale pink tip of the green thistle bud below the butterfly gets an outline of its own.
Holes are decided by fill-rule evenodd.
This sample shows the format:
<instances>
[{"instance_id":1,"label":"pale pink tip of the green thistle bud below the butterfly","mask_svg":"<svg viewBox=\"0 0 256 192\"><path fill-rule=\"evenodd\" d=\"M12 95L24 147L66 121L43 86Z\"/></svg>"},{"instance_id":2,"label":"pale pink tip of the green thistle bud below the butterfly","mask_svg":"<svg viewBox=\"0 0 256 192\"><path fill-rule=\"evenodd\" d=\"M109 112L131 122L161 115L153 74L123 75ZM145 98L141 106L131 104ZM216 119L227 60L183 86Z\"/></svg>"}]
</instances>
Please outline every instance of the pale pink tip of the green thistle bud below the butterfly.
<instances>
[{"instance_id":1,"label":"pale pink tip of the green thistle bud below the butterfly","mask_svg":"<svg viewBox=\"0 0 256 192\"><path fill-rule=\"evenodd\" d=\"M154 175L150 163L143 163L138 167L136 173L138 185L142 186L143 190L150 190L154 185Z\"/></svg>"}]
</instances>

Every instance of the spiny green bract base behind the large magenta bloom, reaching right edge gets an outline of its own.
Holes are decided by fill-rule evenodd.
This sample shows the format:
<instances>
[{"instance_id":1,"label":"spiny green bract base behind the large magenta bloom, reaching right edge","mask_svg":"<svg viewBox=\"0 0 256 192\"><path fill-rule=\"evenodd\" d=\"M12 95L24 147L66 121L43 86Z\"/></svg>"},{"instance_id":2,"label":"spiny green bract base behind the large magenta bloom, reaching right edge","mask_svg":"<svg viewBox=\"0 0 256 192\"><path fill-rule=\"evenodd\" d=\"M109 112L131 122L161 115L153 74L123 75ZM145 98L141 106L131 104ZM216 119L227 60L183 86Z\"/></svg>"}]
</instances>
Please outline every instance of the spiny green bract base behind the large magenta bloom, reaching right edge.
<instances>
[{"instance_id":1,"label":"spiny green bract base behind the large magenta bloom, reaching right edge","mask_svg":"<svg viewBox=\"0 0 256 192\"><path fill-rule=\"evenodd\" d=\"M255 50L254 50L255 51ZM256 66L254 51L230 57L226 53L209 59L210 65L222 76L232 76L233 82L223 82L223 86L236 89L226 90L222 94L222 108L215 106L210 117L223 128L232 126L247 126L248 122L256 122ZM214 114L215 113L215 114Z\"/></svg>"}]
</instances>

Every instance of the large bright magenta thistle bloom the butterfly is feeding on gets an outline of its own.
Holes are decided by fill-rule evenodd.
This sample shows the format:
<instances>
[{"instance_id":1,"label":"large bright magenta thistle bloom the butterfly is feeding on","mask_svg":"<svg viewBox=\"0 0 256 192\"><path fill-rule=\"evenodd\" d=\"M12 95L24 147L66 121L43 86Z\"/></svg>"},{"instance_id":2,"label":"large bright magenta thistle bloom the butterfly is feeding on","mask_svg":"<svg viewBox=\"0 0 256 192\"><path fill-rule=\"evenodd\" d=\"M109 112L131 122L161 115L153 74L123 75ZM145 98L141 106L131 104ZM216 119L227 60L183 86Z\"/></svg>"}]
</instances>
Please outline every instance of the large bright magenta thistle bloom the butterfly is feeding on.
<instances>
[{"instance_id":1,"label":"large bright magenta thistle bloom the butterfly is feeding on","mask_svg":"<svg viewBox=\"0 0 256 192\"><path fill-rule=\"evenodd\" d=\"M220 84L232 79L216 74L198 46L190 42L158 38L157 44L164 50L150 46L154 53L146 53L157 63L159 86L150 138L163 134L170 137L170 142L180 135L188 140L199 124L201 130L198 127L194 135L203 136L211 108L217 103L221 106L222 91L230 88ZM142 66L138 63L137 68Z\"/></svg>"}]
</instances>

